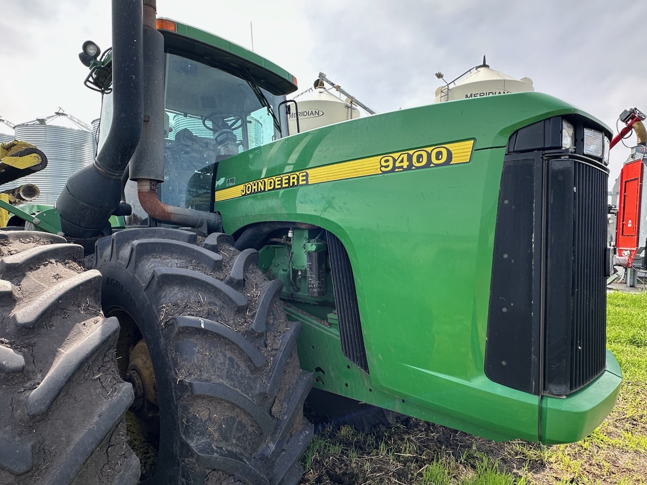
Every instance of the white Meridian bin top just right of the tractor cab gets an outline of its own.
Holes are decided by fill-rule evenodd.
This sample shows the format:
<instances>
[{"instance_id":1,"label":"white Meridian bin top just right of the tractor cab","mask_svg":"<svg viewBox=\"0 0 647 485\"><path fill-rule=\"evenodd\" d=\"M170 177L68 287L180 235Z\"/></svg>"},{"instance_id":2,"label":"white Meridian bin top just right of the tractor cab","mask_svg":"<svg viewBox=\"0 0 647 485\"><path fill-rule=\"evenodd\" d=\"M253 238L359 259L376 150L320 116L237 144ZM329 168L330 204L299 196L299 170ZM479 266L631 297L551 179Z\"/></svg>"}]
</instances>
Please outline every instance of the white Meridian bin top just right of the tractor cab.
<instances>
[{"instance_id":1,"label":"white Meridian bin top just right of the tractor cab","mask_svg":"<svg viewBox=\"0 0 647 485\"><path fill-rule=\"evenodd\" d=\"M289 103L288 127L290 135L297 133L297 111L299 114L299 131L308 131L320 126L360 117L360 111L357 107L341 100L323 87L313 88L311 91L298 96L295 101L298 103L297 110L294 109L294 103Z\"/></svg>"}]
</instances>

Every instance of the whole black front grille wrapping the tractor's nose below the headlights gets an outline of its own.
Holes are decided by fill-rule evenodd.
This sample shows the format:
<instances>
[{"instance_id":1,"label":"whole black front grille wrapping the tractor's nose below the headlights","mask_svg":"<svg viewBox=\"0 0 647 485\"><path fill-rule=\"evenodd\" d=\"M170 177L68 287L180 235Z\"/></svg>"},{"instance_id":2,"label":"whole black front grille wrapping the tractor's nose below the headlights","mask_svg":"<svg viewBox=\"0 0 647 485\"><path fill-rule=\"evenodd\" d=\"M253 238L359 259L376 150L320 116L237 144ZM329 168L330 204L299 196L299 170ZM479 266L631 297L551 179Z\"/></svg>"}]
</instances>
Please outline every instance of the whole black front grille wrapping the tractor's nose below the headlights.
<instances>
[{"instance_id":1,"label":"whole black front grille wrapping the tractor's nose below the headlights","mask_svg":"<svg viewBox=\"0 0 647 485\"><path fill-rule=\"evenodd\" d=\"M485 372L563 396L606 367L608 173L575 154L510 154L494 235Z\"/></svg>"}]
</instances>

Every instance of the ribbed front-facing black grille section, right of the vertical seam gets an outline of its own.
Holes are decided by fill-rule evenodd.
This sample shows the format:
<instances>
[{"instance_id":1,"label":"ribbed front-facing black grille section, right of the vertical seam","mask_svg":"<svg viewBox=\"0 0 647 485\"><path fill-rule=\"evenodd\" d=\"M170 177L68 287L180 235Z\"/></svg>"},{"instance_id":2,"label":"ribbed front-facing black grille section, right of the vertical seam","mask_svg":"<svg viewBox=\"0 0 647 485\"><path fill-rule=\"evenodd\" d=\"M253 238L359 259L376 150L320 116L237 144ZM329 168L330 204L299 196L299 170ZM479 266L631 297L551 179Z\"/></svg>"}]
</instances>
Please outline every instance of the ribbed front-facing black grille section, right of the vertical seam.
<instances>
[{"instance_id":1,"label":"ribbed front-facing black grille section, right of the vertical seam","mask_svg":"<svg viewBox=\"0 0 647 485\"><path fill-rule=\"evenodd\" d=\"M606 367L608 175L576 160L551 160L548 170L544 388L568 394Z\"/></svg>"}]
</instances>

